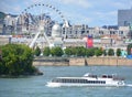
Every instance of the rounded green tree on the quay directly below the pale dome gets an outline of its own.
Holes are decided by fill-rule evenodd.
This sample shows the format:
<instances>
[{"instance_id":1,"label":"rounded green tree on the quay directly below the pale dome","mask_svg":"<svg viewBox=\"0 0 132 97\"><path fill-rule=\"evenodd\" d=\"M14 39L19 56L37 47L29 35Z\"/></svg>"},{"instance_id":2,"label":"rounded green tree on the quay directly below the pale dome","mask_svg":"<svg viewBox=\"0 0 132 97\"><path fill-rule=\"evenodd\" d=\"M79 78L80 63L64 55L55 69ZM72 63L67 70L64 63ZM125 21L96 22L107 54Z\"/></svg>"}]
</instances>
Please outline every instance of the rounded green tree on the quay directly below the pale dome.
<instances>
[{"instance_id":1,"label":"rounded green tree on the quay directly below the pale dome","mask_svg":"<svg viewBox=\"0 0 132 97\"><path fill-rule=\"evenodd\" d=\"M63 52L62 47L56 46L56 47L52 47L51 54L53 56L62 56L64 54L64 52Z\"/></svg>"}]
</instances>

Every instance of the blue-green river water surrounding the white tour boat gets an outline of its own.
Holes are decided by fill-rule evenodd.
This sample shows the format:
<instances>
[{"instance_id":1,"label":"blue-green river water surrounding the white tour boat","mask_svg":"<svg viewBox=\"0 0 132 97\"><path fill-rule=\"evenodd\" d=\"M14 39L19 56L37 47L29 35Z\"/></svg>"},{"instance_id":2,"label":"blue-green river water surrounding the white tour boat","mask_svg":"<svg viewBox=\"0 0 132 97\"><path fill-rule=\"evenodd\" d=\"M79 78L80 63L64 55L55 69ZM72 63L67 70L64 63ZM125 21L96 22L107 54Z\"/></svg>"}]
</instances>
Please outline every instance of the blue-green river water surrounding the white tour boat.
<instances>
[{"instance_id":1,"label":"blue-green river water surrounding the white tour boat","mask_svg":"<svg viewBox=\"0 0 132 97\"><path fill-rule=\"evenodd\" d=\"M0 97L132 97L132 87L47 87L58 76L118 74L132 84L131 66L38 66L43 76L0 78Z\"/></svg>"}]
</instances>

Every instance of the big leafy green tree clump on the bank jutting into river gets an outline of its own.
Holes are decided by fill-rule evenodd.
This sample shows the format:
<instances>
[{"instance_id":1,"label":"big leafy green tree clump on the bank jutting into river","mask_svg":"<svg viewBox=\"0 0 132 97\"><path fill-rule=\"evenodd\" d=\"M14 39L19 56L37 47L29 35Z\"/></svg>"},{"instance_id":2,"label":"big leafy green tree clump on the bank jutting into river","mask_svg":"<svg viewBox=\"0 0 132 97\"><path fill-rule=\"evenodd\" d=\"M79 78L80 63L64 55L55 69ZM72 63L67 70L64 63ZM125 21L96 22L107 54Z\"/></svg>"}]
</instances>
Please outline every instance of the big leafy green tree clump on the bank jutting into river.
<instances>
[{"instance_id":1,"label":"big leafy green tree clump on the bank jutting into river","mask_svg":"<svg viewBox=\"0 0 132 97\"><path fill-rule=\"evenodd\" d=\"M0 47L2 61L0 61L0 75L33 74L36 68L32 66L33 51L22 44L7 44Z\"/></svg>"}]
</instances>

